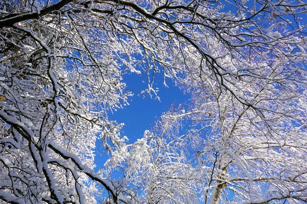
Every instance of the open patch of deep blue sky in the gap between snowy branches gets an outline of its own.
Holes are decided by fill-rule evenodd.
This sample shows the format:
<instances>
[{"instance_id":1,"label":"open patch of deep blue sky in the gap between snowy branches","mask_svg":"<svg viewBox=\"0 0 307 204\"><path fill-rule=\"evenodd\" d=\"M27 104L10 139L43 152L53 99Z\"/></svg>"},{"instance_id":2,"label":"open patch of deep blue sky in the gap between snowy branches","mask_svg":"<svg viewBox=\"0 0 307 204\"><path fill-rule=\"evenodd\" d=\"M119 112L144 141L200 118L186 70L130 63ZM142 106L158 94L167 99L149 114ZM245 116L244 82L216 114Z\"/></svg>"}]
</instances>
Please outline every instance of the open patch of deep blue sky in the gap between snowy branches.
<instances>
[{"instance_id":1,"label":"open patch of deep blue sky in the gap between snowy branches","mask_svg":"<svg viewBox=\"0 0 307 204\"><path fill-rule=\"evenodd\" d=\"M155 87L159 88L160 101L155 99L155 95L152 95L151 98L147 93L145 95L140 94L141 91L148 88L146 74L126 73L123 76L123 82L126 83L127 89L134 93L134 96L128 98L128 106L118 109L113 114L109 113L109 120L116 120L118 123L125 124L122 129L122 136L128 138L129 144L142 138L144 131L150 129L159 116L169 110L171 104L179 105L189 99L189 95L184 94L170 80L167 82L168 87L165 87L162 73L157 73L155 77ZM99 145L100 143L97 141L96 146ZM103 152L101 152L101 155L96 152L95 164L97 167L95 170L102 168L107 159L108 157Z\"/></svg>"}]
</instances>

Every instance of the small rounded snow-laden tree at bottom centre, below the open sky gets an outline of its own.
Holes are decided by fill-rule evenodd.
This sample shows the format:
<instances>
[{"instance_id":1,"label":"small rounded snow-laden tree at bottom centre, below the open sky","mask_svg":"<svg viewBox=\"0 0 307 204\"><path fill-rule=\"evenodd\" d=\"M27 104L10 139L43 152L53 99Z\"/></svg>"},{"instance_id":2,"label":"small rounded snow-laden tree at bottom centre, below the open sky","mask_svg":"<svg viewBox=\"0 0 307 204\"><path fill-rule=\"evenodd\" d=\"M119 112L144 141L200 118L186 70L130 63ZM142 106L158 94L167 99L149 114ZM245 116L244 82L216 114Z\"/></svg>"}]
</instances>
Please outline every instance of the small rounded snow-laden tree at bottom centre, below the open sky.
<instances>
[{"instance_id":1,"label":"small rounded snow-laden tree at bottom centre, below the open sky","mask_svg":"<svg viewBox=\"0 0 307 204\"><path fill-rule=\"evenodd\" d=\"M188 163L183 141L145 131L129 151L125 181L145 203L196 203L202 176Z\"/></svg>"}]
</instances>

